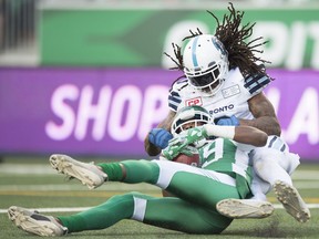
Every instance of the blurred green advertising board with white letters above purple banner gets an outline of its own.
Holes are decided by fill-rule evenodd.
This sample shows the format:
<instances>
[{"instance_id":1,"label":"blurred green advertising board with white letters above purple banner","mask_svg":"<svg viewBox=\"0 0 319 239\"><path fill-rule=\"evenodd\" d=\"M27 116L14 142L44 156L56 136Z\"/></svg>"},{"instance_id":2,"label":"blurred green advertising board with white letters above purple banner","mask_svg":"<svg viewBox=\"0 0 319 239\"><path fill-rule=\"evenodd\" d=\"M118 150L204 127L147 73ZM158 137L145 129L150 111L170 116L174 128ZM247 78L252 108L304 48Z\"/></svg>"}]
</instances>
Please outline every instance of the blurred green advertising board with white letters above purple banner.
<instances>
[{"instance_id":1,"label":"blurred green advertising board with white letters above purple banner","mask_svg":"<svg viewBox=\"0 0 319 239\"><path fill-rule=\"evenodd\" d=\"M235 6L236 7L236 6ZM220 20L226 13L212 4ZM238 9L243 10L243 9ZM251 39L269 41L263 58L270 67L319 69L319 9L278 8L245 11L244 23L256 22ZM206 9L42 9L41 65L164 66L189 30L214 33ZM249 39L248 39L249 41Z\"/></svg>"}]
</instances>

